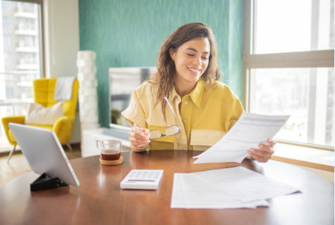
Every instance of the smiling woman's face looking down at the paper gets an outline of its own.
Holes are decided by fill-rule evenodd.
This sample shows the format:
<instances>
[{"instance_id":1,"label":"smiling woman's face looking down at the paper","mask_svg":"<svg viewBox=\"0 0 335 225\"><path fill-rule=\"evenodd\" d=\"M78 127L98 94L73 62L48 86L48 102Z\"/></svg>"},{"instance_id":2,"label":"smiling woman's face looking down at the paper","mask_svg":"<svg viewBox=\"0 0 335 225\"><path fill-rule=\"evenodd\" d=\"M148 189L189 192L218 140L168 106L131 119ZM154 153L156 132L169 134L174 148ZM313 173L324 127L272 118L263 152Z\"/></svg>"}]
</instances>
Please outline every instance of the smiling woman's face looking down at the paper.
<instances>
[{"instance_id":1,"label":"smiling woman's face looking down at the paper","mask_svg":"<svg viewBox=\"0 0 335 225\"><path fill-rule=\"evenodd\" d=\"M170 49L170 56L176 65L176 82L195 85L208 66L210 41L208 38L189 40L177 51Z\"/></svg>"}]
</instances>

